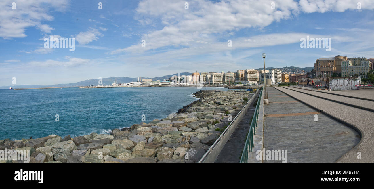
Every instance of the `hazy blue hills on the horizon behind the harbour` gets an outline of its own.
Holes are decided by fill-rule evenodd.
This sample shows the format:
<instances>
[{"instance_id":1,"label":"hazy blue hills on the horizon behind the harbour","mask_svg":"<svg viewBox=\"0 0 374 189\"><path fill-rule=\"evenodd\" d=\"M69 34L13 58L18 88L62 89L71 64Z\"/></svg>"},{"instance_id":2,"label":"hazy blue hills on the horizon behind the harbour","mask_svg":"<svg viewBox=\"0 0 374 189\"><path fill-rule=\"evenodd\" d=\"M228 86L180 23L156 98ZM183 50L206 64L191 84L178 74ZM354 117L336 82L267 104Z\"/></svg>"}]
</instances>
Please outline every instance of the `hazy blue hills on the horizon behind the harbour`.
<instances>
[{"instance_id":1,"label":"hazy blue hills on the horizon behind the harbour","mask_svg":"<svg viewBox=\"0 0 374 189\"><path fill-rule=\"evenodd\" d=\"M182 75L190 75L191 73L181 73ZM176 75L178 76L178 73L167 75L167 76L161 76L161 77L154 77L152 78L153 81L155 80L164 80L169 79L171 76ZM141 79L150 79L150 77L139 77L139 82L141 82ZM108 78L102 78L102 85L111 85L116 81L117 83L129 83L129 82L137 82L138 77L108 77ZM0 86L0 89L9 89L9 87L12 88L42 88L42 87L63 87L63 86L89 86L89 85L98 85L98 79L88 79L76 83L65 83L65 84L56 84L56 85L17 85L17 86Z\"/></svg>"}]
</instances>

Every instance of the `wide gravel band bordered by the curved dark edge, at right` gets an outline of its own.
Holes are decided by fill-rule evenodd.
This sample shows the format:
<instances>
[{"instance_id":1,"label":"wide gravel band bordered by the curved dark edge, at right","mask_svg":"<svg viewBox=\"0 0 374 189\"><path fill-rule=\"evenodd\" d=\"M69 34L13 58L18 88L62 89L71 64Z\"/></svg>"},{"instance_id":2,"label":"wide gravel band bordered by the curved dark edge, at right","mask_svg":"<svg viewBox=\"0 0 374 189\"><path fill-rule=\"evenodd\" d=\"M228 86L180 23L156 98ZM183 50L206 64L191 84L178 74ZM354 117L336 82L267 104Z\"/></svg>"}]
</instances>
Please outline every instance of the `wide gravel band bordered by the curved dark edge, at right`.
<instances>
[{"instance_id":1,"label":"wide gravel band bordered by the curved dark edge, at right","mask_svg":"<svg viewBox=\"0 0 374 189\"><path fill-rule=\"evenodd\" d=\"M346 106L343 104L334 103L332 101L324 100L318 97L313 97L299 92L291 91L289 89L277 87L277 89L289 94L304 103L314 106L332 116L342 119L358 128L361 131L361 141L352 150L344 154L337 162L357 162L357 163L373 163L374 162L374 113L357 109L355 107ZM293 88L292 88L293 89ZM329 125L327 125L329 126ZM358 153L361 154L361 159L358 159Z\"/></svg>"}]
</instances>

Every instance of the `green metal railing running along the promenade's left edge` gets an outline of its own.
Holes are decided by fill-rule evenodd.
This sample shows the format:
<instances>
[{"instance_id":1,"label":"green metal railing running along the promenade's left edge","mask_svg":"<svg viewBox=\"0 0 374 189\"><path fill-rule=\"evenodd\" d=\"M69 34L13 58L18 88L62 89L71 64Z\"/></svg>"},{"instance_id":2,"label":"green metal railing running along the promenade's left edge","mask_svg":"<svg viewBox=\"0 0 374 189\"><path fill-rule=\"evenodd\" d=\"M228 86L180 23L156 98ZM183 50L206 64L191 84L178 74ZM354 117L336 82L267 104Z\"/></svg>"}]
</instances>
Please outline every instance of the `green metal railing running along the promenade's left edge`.
<instances>
[{"instance_id":1,"label":"green metal railing running along the promenade's left edge","mask_svg":"<svg viewBox=\"0 0 374 189\"><path fill-rule=\"evenodd\" d=\"M252 148L254 147L253 135L256 135L258 111L260 110L261 94L263 92L263 89L264 88L261 88L260 95L258 96L255 112L253 113L253 117L252 117L251 126L249 126L249 132L247 135L247 139L245 140L242 157L240 158L240 163L248 162L248 152L252 152Z\"/></svg>"}]
</instances>

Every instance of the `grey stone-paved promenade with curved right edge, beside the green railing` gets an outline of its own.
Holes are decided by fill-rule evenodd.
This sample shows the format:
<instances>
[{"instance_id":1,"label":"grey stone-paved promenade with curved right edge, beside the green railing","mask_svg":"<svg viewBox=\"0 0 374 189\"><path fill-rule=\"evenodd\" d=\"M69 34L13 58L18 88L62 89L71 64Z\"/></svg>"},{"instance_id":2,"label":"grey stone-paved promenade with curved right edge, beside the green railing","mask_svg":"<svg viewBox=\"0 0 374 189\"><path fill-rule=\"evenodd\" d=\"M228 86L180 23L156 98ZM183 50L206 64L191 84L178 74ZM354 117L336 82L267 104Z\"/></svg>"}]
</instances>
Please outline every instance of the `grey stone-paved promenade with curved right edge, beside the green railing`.
<instances>
[{"instance_id":1,"label":"grey stone-paved promenade with curved right edge, beside the green railing","mask_svg":"<svg viewBox=\"0 0 374 189\"><path fill-rule=\"evenodd\" d=\"M273 87L266 89L269 98L269 104L264 106L266 150L288 150L287 162L332 163L359 143L359 134L352 128ZM315 115L318 122L314 121ZM281 161L264 161L274 162Z\"/></svg>"}]
</instances>

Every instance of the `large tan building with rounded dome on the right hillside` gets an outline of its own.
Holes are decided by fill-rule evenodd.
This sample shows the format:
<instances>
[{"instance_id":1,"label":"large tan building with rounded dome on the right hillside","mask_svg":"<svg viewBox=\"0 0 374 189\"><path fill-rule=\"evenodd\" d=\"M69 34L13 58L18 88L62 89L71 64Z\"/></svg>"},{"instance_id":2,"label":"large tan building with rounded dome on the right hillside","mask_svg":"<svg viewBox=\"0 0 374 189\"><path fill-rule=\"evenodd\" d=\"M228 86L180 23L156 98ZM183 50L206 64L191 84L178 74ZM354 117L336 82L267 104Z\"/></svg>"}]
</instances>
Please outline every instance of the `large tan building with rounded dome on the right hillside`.
<instances>
[{"instance_id":1,"label":"large tan building with rounded dome on the right hillside","mask_svg":"<svg viewBox=\"0 0 374 189\"><path fill-rule=\"evenodd\" d=\"M329 58L318 58L316 63L314 63L314 69L316 70L317 76L328 77L329 74L332 75L334 72L341 73L341 62L346 60L348 60L347 57L342 57L340 55Z\"/></svg>"}]
</instances>

